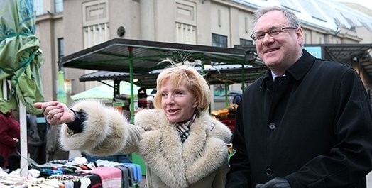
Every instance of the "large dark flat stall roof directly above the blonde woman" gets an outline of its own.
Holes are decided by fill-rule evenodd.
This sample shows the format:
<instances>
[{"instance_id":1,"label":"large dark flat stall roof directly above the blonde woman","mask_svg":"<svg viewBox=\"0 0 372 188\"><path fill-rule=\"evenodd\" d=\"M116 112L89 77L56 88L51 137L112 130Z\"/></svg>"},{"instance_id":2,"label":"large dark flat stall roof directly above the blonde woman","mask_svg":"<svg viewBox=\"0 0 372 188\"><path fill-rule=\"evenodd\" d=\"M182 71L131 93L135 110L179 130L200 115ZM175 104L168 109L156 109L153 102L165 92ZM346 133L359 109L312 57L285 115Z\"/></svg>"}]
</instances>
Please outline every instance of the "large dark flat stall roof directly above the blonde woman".
<instances>
[{"instance_id":1,"label":"large dark flat stall roof directly above the blonde woman","mask_svg":"<svg viewBox=\"0 0 372 188\"><path fill-rule=\"evenodd\" d=\"M167 58L177 62L204 60L206 64L217 62L263 66L262 62L246 60L244 56L244 49L237 48L115 38L63 57L62 65L87 70L129 72L133 60L133 73L138 74L163 69L169 64L159 62Z\"/></svg>"}]
</instances>

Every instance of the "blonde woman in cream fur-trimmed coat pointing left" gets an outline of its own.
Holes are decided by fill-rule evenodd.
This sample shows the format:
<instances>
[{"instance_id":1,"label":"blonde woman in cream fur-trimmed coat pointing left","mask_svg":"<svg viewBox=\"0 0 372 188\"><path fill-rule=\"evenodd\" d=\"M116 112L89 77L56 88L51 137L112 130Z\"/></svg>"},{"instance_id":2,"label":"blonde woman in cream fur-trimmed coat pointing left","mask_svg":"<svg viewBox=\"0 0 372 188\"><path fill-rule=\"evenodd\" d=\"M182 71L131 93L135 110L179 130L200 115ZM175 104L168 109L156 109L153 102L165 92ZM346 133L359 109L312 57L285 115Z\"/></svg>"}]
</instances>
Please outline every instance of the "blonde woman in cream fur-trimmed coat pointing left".
<instances>
[{"instance_id":1,"label":"blonde woman in cream fur-trimmed coat pointing left","mask_svg":"<svg viewBox=\"0 0 372 188\"><path fill-rule=\"evenodd\" d=\"M160 72L156 84L155 109L138 111L134 125L97 101L72 109L57 101L35 106L50 124L66 123L60 134L67 150L141 155L147 187L224 187L231 131L207 112L206 80L194 67L179 65Z\"/></svg>"}]
</instances>

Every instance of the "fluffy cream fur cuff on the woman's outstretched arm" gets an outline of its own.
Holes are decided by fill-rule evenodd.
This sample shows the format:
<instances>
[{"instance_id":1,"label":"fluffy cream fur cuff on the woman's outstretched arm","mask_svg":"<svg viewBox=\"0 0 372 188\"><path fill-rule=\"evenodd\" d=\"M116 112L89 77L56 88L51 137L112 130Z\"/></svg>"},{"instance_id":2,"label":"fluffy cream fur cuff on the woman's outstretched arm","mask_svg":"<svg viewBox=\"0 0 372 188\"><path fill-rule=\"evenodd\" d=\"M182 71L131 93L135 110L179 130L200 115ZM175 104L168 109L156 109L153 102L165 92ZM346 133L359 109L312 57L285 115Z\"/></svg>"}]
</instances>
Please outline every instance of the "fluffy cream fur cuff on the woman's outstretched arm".
<instances>
[{"instance_id":1,"label":"fluffy cream fur cuff on the woman's outstretched arm","mask_svg":"<svg viewBox=\"0 0 372 188\"><path fill-rule=\"evenodd\" d=\"M128 120L116 109L99 101L80 101L72 109L84 111L82 133L69 135L62 125L60 143L65 150L83 150L90 155L113 155L125 145Z\"/></svg>"}]
</instances>

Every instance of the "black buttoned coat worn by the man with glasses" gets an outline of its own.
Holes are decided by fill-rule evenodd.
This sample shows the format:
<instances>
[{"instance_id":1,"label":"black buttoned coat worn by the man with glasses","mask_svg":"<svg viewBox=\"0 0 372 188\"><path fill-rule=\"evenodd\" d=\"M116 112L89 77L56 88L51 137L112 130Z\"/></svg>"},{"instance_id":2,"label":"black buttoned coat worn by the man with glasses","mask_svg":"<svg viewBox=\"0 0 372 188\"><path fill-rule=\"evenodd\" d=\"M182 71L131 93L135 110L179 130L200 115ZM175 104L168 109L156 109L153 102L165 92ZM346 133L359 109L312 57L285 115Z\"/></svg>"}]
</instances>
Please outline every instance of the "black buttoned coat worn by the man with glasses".
<instances>
[{"instance_id":1,"label":"black buttoned coat worn by the man with glasses","mask_svg":"<svg viewBox=\"0 0 372 188\"><path fill-rule=\"evenodd\" d=\"M244 92L226 187L285 177L297 187L366 187L371 106L351 67L306 50L285 77L270 70Z\"/></svg>"}]
</instances>

